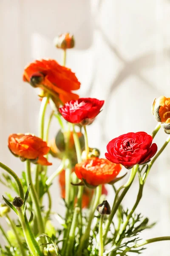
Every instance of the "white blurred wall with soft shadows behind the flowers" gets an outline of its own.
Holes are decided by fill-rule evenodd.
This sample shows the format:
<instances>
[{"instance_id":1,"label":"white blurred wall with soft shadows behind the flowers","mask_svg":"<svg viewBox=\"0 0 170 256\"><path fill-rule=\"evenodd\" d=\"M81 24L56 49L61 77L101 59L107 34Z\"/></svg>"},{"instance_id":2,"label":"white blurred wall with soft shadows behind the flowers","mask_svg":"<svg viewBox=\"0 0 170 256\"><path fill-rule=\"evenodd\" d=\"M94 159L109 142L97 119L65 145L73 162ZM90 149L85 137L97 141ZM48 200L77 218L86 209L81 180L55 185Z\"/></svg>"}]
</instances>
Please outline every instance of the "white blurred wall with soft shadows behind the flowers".
<instances>
[{"instance_id":1,"label":"white blurred wall with soft shadows behind the flowers","mask_svg":"<svg viewBox=\"0 0 170 256\"><path fill-rule=\"evenodd\" d=\"M24 168L7 148L10 133L38 131L40 102L37 91L22 81L23 69L36 58L61 63L62 52L53 45L59 32L71 32L76 39L76 47L68 51L67 66L82 84L80 96L105 99L102 113L88 127L90 146L104 156L108 141L120 134L151 133L156 125L150 112L153 99L170 97L169 22L170 0L0 0L0 161L18 175ZM57 129L53 122L51 138ZM159 131L159 147L165 138L164 131ZM144 239L170 236L169 152L167 146L154 164L136 209L157 221L143 233ZM52 160L49 174L58 165ZM0 185L0 198L5 191ZM51 192L53 209L61 213L57 180ZM136 195L137 180L125 197L125 206L132 206ZM113 201L112 190L108 201ZM170 256L170 242L148 245L144 256L153 255Z\"/></svg>"}]
</instances>

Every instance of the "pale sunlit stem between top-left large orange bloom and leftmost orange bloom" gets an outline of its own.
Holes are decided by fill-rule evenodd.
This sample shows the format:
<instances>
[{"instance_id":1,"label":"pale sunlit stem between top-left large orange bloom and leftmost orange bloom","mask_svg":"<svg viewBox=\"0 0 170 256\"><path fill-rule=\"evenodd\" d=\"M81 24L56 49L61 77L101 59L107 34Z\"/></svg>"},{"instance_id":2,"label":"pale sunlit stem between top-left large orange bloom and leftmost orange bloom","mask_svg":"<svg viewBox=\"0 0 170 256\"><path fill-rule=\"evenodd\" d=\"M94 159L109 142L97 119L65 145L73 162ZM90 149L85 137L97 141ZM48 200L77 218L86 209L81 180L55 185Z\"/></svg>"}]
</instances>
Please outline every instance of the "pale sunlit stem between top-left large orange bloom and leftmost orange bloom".
<instances>
[{"instance_id":1,"label":"pale sunlit stem between top-left large orange bloom and leftmost orange bloom","mask_svg":"<svg viewBox=\"0 0 170 256\"><path fill-rule=\"evenodd\" d=\"M48 105L49 96L44 97L41 102L40 113L39 113L39 137L44 139L44 120L45 120L45 111Z\"/></svg>"}]
</instances>

